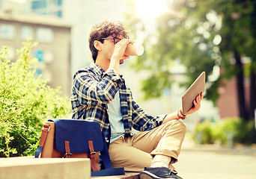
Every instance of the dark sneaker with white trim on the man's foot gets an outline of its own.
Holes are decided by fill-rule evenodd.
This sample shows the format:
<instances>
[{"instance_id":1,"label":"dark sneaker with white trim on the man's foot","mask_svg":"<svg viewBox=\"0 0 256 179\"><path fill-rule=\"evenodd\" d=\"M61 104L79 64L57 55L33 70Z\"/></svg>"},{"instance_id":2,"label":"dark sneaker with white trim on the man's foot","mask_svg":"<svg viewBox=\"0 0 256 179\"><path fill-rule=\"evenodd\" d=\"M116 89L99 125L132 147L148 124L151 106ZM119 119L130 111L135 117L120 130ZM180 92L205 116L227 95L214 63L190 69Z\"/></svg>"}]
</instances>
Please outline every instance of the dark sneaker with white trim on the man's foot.
<instances>
[{"instance_id":1,"label":"dark sneaker with white trim on the man's foot","mask_svg":"<svg viewBox=\"0 0 256 179\"><path fill-rule=\"evenodd\" d=\"M139 177L140 179L182 179L174 169L168 169L166 167L145 168L144 171L139 173Z\"/></svg>"}]
</instances>

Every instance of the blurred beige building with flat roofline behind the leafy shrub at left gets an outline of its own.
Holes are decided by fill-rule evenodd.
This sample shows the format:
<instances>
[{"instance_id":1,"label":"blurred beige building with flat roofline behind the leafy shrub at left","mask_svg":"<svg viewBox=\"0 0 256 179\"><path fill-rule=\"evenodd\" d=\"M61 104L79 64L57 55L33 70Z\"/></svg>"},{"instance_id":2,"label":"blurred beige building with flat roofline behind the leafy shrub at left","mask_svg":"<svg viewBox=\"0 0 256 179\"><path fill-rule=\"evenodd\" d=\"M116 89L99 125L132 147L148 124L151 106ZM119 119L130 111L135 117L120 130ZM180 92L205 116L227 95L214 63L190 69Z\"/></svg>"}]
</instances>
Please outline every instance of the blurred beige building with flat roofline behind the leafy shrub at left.
<instances>
[{"instance_id":1,"label":"blurred beige building with flat roofline behind the leafy shrub at left","mask_svg":"<svg viewBox=\"0 0 256 179\"><path fill-rule=\"evenodd\" d=\"M0 12L0 46L10 49L10 60L16 60L16 49L32 38L38 45L32 56L38 59L37 74L49 80L49 86L61 87L63 95L70 95L70 31L71 26L57 17Z\"/></svg>"}]
</instances>

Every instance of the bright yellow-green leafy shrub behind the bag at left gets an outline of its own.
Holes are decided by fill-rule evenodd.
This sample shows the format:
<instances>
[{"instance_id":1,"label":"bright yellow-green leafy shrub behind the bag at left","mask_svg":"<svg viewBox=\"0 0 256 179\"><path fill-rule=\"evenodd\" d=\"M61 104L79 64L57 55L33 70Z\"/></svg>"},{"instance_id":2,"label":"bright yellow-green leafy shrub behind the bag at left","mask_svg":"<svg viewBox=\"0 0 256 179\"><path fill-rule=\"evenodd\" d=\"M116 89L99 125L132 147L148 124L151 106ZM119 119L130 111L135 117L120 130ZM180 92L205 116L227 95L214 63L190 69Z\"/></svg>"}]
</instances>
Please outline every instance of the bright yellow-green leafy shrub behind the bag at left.
<instances>
[{"instance_id":1,"label":"bright yellow-green leafy shrub behind the bag at left","mask_svg":"<svg viewBox=\"0 0 256 179\"><path fill-rule=\"evenodd\" d=\"M46 119L67 116L70 103L46 80L35 77L36 59L30 58L31 40L17 50L16 62L8 59L8 48L0 51L0 157L34 154Z\"/></svg>"}]
</instances>

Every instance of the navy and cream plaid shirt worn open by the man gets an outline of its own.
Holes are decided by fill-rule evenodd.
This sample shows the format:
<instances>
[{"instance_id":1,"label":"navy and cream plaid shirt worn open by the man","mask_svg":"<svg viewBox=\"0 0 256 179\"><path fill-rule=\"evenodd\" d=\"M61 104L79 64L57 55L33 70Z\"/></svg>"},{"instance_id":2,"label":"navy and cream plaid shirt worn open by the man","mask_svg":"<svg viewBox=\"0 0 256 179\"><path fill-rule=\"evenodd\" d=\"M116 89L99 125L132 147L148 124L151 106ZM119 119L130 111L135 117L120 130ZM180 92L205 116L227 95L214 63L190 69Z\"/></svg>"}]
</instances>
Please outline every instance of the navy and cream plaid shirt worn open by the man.
<instances>
[{"instance_id":1,"label":"navy and cream plaid shirt worn open by the man","mask_svg":"<svg viewBox=\"0 0 256 179\"><path fill-rule=\"evenodd\" d=\"M114 70L105 72L95 63L80 69L73 77L72 118L99 122L101 131L109 142L111 132L107 104L112 102L118 91L125 134L131 134L132 128L148 131L162 124L165 116L149 116L138 107L122 76Z\"/></svg>"}]
</instances>

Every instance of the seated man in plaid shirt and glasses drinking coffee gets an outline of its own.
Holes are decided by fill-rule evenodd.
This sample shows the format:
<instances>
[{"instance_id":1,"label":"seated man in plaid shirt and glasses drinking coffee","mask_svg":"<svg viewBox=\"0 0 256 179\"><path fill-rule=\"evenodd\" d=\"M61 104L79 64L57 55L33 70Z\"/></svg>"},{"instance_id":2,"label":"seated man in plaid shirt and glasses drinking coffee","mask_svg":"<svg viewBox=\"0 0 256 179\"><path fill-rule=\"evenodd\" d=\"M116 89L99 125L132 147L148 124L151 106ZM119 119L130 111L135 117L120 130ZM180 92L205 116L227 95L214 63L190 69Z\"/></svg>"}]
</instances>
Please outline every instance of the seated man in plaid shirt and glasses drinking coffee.
<instances>
[{"instance_id":1,"label":"seated man in plaid shirt and glasses drinking coffee","mask_svg":"<svg viewBox=\"0 0 256 179\"><path fill-rule=\"evenodd\" d=\"M199 109L198 95L188 113L181 110L164 116L150 116L138 107L132 93L119 75L119 66L128 39L120 22L102 22L92 28L89 45L94 62L80 69L73 78L73 119L100 123L109 142L113 167L137 171L140 178L180 178L171 165L177 162L186 126L178 119ZM152 64L153 65L153 64ZM141 133L132 135L132 128ZM144 169L144 167L146 167Z\"/></svg>"}]
</instances>

